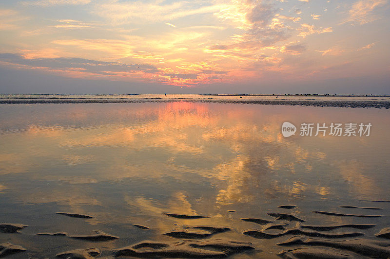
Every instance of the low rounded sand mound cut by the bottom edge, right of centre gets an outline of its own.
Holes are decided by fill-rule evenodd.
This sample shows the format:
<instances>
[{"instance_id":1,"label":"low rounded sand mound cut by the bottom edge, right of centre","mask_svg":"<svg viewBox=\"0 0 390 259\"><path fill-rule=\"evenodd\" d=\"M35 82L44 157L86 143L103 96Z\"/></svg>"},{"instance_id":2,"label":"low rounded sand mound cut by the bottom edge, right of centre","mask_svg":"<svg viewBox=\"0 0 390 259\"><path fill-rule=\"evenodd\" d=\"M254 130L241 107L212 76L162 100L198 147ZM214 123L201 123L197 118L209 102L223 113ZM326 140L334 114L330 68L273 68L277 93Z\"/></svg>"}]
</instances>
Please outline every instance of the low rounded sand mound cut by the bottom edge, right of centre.
<instances>
[{"instance_id":1,"label":"low rounded sand mound cut by the bottom edge, right of centre","mask_svg":"<svg viewBox=\"0 0 390 259\"><path fill-rule=\"evenodd\" d=\"M283 250L278 256L284 259L349 259L354 258L344 252L338 253L324 248L297 248L293 250Z\"/></svg>"}]
</instances>

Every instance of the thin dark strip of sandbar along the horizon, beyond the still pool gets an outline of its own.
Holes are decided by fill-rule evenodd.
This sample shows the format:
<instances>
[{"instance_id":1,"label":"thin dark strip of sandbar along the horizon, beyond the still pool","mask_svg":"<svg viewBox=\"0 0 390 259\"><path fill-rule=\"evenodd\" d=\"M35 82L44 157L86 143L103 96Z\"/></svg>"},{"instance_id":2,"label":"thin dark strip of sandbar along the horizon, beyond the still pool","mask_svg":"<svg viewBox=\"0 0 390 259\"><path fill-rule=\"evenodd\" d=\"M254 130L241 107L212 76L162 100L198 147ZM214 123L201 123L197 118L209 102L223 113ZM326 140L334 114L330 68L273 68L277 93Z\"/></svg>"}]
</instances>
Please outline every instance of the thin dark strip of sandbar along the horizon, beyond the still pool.
<instances>
[{"instance_id":1,"label":"thin dark strip of sandbar along the horizon, beyond the still pool","mask_svg":"<svg viewBox=\"0 0 390 259\"><path fill-rule=\"evenodd\" d=\"M390 100L218 100L218 99L3 99L0 104L86 104L86 103L169 103L195 102L218 104L270 104L270 105L300 105L320 107L351 107L351 108L390 108Z\"/></svg>"}]
</instances>

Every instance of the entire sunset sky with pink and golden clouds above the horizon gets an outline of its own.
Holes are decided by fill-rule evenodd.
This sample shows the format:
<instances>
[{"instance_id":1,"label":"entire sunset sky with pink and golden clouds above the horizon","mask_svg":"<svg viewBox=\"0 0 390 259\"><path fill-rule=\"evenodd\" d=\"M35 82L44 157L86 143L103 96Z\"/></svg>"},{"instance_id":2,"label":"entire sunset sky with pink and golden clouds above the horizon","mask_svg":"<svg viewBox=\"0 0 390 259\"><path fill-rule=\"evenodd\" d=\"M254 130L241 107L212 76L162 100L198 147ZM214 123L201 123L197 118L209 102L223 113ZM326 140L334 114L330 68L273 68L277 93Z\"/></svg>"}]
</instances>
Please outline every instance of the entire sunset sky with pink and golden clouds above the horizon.
<instances>
[{"instance_id":1,"label":"entire sunset sky with pink and golden clouds above the horizon","mask_svg":"<svg viewBox=\"0 0 390 259\"><path fill-rule=\"evenodd\" d=\"M389 0L1 0L0 94L390 94Z\"/></svg>"}]
</instances>

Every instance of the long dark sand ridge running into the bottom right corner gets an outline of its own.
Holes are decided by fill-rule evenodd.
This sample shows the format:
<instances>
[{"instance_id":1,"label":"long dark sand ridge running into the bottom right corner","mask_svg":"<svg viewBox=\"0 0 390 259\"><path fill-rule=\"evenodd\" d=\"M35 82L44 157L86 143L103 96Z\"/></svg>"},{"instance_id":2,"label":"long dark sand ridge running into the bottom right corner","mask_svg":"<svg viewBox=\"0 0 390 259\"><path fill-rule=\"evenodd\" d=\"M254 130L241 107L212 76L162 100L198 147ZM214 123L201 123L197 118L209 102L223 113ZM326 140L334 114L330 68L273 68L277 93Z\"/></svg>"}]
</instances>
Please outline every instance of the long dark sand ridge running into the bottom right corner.
<instances>
[{"instance_id":1,"label":"long dark sand ridge running into the bottom right corner","mask_svg":"<svg viewBox=\"0 0 390 259\"><path fill-rule=\"evenodd\" d=\"M374 241L368 239L354 239L331 241L323 239L312 239L302 237L292 237L285 242L277 243L278 245L305 245L305 246L327 246L335 249L344 249L355 252L362 256L374 258L390 257L390 242Z\"/></svg>"}]
</instances>

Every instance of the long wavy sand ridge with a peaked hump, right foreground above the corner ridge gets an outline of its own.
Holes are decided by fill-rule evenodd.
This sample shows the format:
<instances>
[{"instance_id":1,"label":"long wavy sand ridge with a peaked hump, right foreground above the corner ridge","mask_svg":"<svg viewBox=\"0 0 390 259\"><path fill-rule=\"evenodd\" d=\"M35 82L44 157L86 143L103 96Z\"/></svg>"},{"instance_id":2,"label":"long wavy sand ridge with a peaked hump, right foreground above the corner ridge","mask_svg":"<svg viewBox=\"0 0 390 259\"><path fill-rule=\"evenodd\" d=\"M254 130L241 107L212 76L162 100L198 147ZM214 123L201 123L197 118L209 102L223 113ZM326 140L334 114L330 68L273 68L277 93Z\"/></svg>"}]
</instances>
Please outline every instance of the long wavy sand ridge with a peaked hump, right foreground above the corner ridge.
<instances>
[{"instance_id":1,"label":"long wavy sand ridge with a peaked hump, right foreground above the corner ridge","mask_svg":"<svg viewBox=\"0 0 390 259\"><path fill-rule=\"evenodd\" d=\"M258 239L273 239L285 235L305 235L308 237L324 237L324 238L345 238L345 237L357 237L362 236L361 232L341 232L341 233L322 233L318 231L307 231L301 229L301 224L297 222L294 227L287 228L280 233L267 233L264 230L248 229L243 232L244 235L248 235Z\"/></svg>"}]
</instances>

